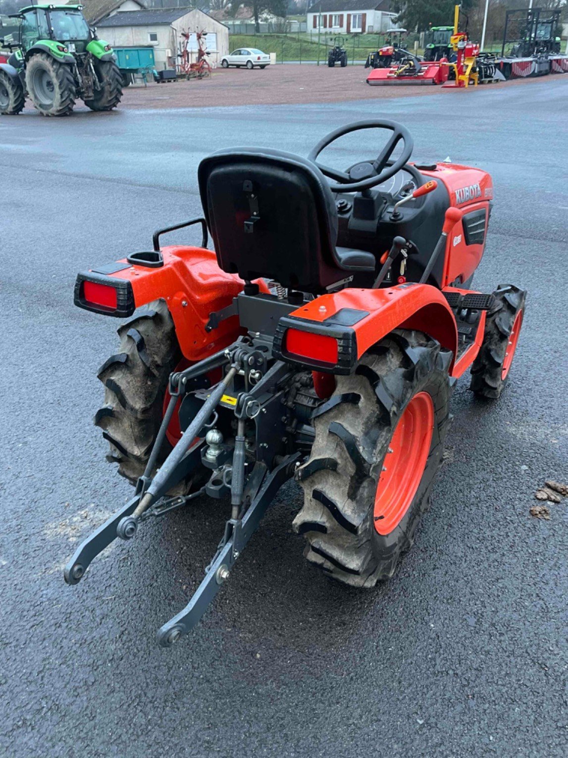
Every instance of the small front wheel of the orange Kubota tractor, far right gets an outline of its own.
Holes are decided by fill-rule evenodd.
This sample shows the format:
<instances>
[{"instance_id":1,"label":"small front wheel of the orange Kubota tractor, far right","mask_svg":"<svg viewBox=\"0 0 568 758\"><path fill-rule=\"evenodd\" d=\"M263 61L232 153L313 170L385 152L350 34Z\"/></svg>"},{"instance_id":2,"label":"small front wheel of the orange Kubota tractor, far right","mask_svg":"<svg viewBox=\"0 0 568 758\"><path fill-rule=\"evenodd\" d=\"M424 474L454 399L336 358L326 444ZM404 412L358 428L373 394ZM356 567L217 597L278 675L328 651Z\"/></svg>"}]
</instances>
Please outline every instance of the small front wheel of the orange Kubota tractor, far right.
<instances>
[{"instance_id":1,"label":"small front wheel of the orange Kubota tractor, far right","mask_svg":"<svg viewBox=\"0 0 568 758\"><path fill-rule=\"evenodd\" d=\"M471 367L470 389L478 396L498 399L509 379L523 326L526 290L500 284L493 294L496 305L485 321L483 343Z\"/></svg>"}]
</instances>

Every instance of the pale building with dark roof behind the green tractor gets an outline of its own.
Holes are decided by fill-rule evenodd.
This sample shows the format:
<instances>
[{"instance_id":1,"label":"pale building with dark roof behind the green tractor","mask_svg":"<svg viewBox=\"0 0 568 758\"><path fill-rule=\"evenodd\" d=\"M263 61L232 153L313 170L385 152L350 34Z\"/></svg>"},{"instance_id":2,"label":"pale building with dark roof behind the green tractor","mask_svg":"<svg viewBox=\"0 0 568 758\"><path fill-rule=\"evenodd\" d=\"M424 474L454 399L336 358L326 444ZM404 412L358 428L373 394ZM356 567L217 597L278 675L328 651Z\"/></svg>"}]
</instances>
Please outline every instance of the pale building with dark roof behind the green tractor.
<instances>
[{"instance_id":1,"label":"pale building with dark roof behind the green tractor","mask_svg":"<svg viewBox=\"0 0 568 758\"><path fill-rule=\"evenodd\" d=\"M189 31L189 49L196 50L195 32L207 32L210 60L219 63L229 53L229 30L203 11L192 8L160 8L119 11L97 25L98 35L113 47L154 47L157 70L173 68L183 50L182 32Z\"/></svg>"}]
</instances>

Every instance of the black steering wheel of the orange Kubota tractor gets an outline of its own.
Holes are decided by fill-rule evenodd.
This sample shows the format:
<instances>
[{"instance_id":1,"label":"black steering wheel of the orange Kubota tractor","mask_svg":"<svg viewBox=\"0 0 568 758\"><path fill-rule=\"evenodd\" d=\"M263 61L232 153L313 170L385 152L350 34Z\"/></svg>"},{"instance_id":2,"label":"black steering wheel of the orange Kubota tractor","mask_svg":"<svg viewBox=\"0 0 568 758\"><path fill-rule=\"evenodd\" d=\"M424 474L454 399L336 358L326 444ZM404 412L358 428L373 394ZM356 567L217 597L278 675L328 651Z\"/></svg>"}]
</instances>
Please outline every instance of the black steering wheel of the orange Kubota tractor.
<instances>
[{"instance_id":1,"label":"black steering wheel of the orange Kubota tractor","mask_svg":"<svg viewBox=\"0 0 568 758\"><path fill-rule=\"evenodd\" d=\"M370 161L356 163L348 171L336 171L335 168L329 168L318 163L317 156L320 155L320 152L324 148L335 142L335 139L339 139L339 137L351 132L357 132L360 129L387 129L392 131L392 137L386 143L376 161L372 163ZM401 140L403 146L401 157L397 158L392 165L387 165L392 153L395 152L395 147ZM413 148L414 140L410 136L410 132L402 124L397 124L396 121L356 121L354 124L347 124L345 127L339 127L339 129L329 132L327 136L317 143L310 155L307 156L307 159L313 161L322 174L337 182L329 185L329 189L332 192L362 192L364 189L370 189L377 186L377 184L382 184L382 182L393 177L397 171L400 171L404 164L407 164L410 155L412 155Z\"/></svg>"}]
</instances>

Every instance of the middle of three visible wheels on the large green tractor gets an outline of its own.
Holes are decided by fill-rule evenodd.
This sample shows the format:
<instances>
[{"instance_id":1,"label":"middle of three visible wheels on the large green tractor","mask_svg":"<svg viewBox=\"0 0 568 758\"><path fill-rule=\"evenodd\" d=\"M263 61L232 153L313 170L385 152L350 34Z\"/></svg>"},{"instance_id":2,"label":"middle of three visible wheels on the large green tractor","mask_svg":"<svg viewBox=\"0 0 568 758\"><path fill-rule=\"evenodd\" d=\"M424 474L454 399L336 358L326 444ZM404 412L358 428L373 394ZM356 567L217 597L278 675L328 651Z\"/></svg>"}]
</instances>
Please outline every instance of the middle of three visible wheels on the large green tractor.
<instances>
[{"instance_id":1,"label":"middle of three visible wheels on the large green tractor","mask_svg":"<svg viewBox=\"0 0 568 758\"><path fill-rule=\"evenodd\" d=\"M26 66L26 89L34 107L44 116L68 116L76 97L73 71L45 52L33 55Z\"/></svg>"}]
</instances>

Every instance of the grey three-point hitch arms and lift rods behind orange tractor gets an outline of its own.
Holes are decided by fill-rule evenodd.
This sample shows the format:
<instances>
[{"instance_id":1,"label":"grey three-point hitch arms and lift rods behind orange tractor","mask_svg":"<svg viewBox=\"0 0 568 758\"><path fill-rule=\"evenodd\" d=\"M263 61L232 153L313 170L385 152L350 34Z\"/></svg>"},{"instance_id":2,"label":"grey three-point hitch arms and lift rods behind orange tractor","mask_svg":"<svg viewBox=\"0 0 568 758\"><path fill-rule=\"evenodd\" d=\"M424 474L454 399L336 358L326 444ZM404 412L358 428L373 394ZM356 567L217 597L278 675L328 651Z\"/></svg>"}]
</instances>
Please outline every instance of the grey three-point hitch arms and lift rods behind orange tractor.
<instances>
[{"instance_id":1,"label":"grey three-point hitch arms and lift rods behind orange tractor","mask_svg":"<svg viewBox=\"0 0 568 758\"><path fill-rule=\"evenodd\" d=\"M198 433L204 427L211 426L207 423L208 419L215 414L221 396L233 381L233 377L239 372L240 364L245 358L245 351L237 348L231 353L217 353L211 358L186 369L186 371L172 374L170 377L170 403L164 414L164 420L158 431L145 473L136 486L136 494L76 549L64 568L64 579L67 584L77 584L85 575L92 559L98 556L102 550L105 550L105 547L108 547L117 537L123 540L132 540L136 536L139 526L149 518L160 518L186 506L189 501L204 493L205 487L202 487L201 490L187 496L164 497L165 493L178 481L181 481L188 471L197 467L201 460L203 440L199 438L195 442L195 438L198 437ZM228 364L230 364L230 368L223 381L211 391L211 395L205 400L192 423L184 432L183 437L176 443L158 473L154 478L151 478L151 471L154 470L155 462L158 459L158 453L176 402L179 396L183 395L183 387L186 386L190 378L204 374L211 368ZM267 371L264 377L254 385L252 390L246 393L245 402L238 403L237 407L240 412L236 412L238 430L235 438L230 481L231 518L226 522L217 552L189 603L158 631L158 643L161 647L173 645L201 620L220 587L229 578L233 565L254 534L279 487L294 474L295 467L301 459L301 453L282 456L282 458L277 459L275 468L270 471L264 462L257 461L245 481L245 438L242 435L242 429L244 428L243 418L247 415L247 406L250 403L257 403L257 399L263 393L266 393L269 388L273 390L273 387L282 381L287 374L289 374L289 368L282 362L276 362L270 371Z\"/></svg>"}]
</instances>

